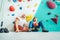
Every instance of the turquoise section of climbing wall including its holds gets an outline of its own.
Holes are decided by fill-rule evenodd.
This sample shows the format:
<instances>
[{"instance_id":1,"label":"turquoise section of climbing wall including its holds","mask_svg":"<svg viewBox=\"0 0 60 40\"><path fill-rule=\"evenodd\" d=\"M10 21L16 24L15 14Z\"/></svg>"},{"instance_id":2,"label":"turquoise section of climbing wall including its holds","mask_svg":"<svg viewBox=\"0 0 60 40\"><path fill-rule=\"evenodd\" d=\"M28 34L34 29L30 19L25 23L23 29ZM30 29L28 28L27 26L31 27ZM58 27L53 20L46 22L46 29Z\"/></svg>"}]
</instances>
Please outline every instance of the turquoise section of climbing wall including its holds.
<instances>
[{"instance_id":1,"label":"turquoise section of climbing wall including its holds","mask_svg":"<svg viewBox=\"0 0 60 40\"><path fill-rule=\"evenodd\" d=\"M49 31L60 31L59 0L42 0L35 16L38 18L38 22L42 20L43 26Z\"/></svg>"}]
</instances>

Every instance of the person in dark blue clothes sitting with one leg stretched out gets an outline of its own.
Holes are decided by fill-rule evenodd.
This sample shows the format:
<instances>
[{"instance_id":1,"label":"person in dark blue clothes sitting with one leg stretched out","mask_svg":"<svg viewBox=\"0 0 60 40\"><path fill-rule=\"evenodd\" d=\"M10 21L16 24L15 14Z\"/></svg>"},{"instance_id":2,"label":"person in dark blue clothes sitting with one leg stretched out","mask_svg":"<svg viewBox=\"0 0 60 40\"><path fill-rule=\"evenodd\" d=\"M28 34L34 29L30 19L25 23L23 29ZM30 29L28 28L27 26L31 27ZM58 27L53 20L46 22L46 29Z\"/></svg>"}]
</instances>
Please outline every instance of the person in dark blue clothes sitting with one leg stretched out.
<instances>
[{"instance_id":1,"label":"person in dark blue clothes sitting with one leg stretched out","mask_svg":"<svg viewBox=\"0 0 60 40\"><path fill-rule=\"evenodd\" d=\"M39 23L37 22L37 18L34 17L33 18L33 22L32 22L32 30L33 32L38 32L40 30L40 27L42 28L42 32L48 32L48 30L46 30L42 24L42 22L40 21Z\"/></svg>"}]
</instances>

